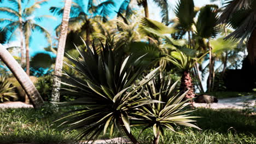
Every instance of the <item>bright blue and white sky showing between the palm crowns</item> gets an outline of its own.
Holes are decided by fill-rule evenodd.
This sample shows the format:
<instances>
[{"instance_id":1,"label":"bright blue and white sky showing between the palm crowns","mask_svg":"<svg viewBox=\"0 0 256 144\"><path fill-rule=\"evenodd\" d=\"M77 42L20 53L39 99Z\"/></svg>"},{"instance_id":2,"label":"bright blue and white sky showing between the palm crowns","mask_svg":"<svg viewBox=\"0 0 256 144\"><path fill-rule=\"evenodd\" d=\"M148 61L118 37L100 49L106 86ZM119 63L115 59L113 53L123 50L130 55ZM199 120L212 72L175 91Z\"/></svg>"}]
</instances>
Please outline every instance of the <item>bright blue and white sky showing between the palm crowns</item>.
<instances>
[{"instance_id":1,"label":"bright blue and white sky showing between the palm crowns","mask_svg":"<svg viewBox=\"0 0 256 144\"><path fill-rule=\"evenodd\" d=\"M118 10L121 2L123 2L123 0L115 0L116 4L115 4L115 10ZM136 1L136 0L133 0ZM149 4L149 17L150 19L153 20L157 20L157 21L161 21L161 14L160 14L160 8L157 7L157 5L153 2L153 0L148 0L148 4ZM33 0L31 0L31 2L35 2ZM86 2L86 0L85 0ZM175 7L176 3L178 2L178 0L168 0L168 3L170 5L170 18L174 17L174 13L173 13L173 8ZM210 0L194 0L195 5L197 7L201 7L202 5L205 4L209 4ZM136 2L133 2L136 3ZM5 0L4 3L0 4L0 7L9 7L11 4L8 3L7 0ZM49 12L49 8L50 7L63 7L64 3L63 0L49 0L48 4L43 5L40 9L38 9L35 13L35 16L39 16L39 15L53 15ZM25 7L25 5L22 5L23 7ZM28 5L29 6L29 5ZM142 11L142 8L136 7L138 10ZM141 13L142 16L144 15L144 13ZM61 23L61 17L54 15L56 17L56 20L54 19L47 19L45 21L42 22L37 22L40 26L44 27L45 29L48 30L48 32L52 35L53 38L53 42L55 44L57 44L57 40L56 40L56 35L55 35L55 27L57 25L59 25ZM0 14L0 17L5 17L5 14ZM115 13L113 13L110 17L115 17ZM17 37L18 38L18 37ZM14 38L12 39L12 41L10 42L10 44L8 46L14 46L14 45L19 45L19 39ZM44 36L39 33L39 32L34 32L32 34L32 43L30 44L30 54L31 56L33 56L35 53L37 52L43 52L44 51L44 47L48 46L46 39L44 38Z\"/></svg>"}]
</instances>

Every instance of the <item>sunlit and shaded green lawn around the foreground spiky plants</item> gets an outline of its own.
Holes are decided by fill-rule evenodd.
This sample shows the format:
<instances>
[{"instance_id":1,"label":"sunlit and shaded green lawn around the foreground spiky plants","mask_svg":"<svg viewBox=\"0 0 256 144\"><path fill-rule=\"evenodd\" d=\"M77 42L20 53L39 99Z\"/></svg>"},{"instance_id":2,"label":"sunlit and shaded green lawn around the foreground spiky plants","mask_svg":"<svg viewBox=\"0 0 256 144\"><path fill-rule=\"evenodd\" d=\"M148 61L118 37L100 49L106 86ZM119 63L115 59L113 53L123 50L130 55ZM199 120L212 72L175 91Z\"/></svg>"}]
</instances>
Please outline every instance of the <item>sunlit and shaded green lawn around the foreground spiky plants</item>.
<instances>
[{"instance_id":1,"label":"sunlit and shaded green lawn around the foreground spiky plants","mask_svg":"<svg viewBox=\"0 0 256 144\"><path fill-rule=\"evenodd\" d=\"M63 110L60 110L61 113ZM166 130L165 139L160 143L256 143L256 117L246 116L238 110L198 109L193 113L197 125L202 130L178 127L184 135ZM0 109L0 143L69 143L79 133L73 130L66 133L53 123L57 114L49 108L34 109ZM132 128L138 137L140 129ZM120 136L120 134L115 134ZM101 138L107 138L101 136ZM152 143L152 129L146 130L138 137L142 143Z\"/></svg>"}]
</instances>

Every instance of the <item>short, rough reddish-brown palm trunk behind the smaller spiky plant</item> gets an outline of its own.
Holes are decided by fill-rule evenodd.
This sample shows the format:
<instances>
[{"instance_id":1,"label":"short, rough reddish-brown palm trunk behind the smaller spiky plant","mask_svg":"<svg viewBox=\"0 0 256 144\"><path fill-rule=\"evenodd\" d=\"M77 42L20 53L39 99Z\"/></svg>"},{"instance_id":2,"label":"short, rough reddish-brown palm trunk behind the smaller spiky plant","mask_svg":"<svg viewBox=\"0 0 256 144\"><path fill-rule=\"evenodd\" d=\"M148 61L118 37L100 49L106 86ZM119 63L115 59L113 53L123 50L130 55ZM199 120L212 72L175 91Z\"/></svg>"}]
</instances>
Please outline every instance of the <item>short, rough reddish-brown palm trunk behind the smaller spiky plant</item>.
<instances>
[{"instance_id":1,"label":"short, rough reddish-brown palm trunk behind the smaller spiky plant","mask_svg":"<svg viewBox=\"0 0 256 144\"><path fill-rule=\"evenodd\" d=\"M180 91L181 93L188 91L188 93L185 96L185 99L190 99L195 97L193 82L190 77L190 73L187 70L183 72L183 75L181 78Z\"/></svg>"}]
</instances>

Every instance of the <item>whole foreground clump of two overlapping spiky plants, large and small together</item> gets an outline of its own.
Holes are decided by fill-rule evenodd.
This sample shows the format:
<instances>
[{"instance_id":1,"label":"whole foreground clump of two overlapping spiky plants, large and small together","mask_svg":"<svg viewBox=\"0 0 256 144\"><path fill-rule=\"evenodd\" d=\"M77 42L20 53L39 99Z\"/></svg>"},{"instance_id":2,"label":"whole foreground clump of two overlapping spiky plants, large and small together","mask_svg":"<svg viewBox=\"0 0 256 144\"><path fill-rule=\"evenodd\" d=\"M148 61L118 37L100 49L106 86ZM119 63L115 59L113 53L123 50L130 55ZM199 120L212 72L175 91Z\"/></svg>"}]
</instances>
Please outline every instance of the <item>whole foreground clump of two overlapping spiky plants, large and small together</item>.
<instances>
[{"instance_id":1,"label":"whole foreground clump of two overlapping spiky plants, large and small together","mask_svg":"<svg viewBox=\"0 0 256 144\"><path fill-rule=\"evenodd\" d=\"M83 137L96 140L102 132L106 134L109 131L112 135L118 129L124 131L133 143L137 143L137 140L131 133L132 123L145 125L137 116L146 118L144 122L149 121L147 118L150 117L152 123L157 123L150 123L150 126L161 131L162 125L173 130L173 124L197 128L189 123L194 122L190 120L194 117L183 115L189 112L182 110L187 102L181 103L185 94L172 97L174 85L171 86L169 80L161 79L156 85L154 77L158 75L159 68L143 76L147 68L142 63L144 55L139 58L132 55L126 57L122 51L113 48L106 43L97 51L95 45L85 45L82 49L77 48L80 53L78 58L69 56L69 61L74 64L69 67L78 71L83 78L68 73L60 77L63 84L79 89L62 88L63 93L77 96L77 99L65 105L82 107L66 113L67 116L58 121L64 121L62 124L68 125L68 130L83 128L78 140ZM149 83L150 80L152 82ZM162 119L164 117L165 120ZM161 124L158 125L158 122ZM157 135L160 131L154 130L154 133L159 139Z\"/></svg>"}]
</instances>

